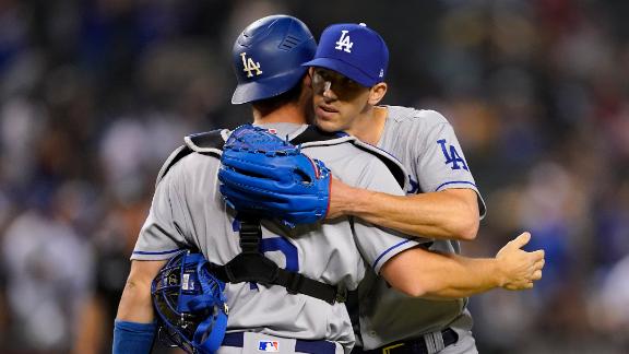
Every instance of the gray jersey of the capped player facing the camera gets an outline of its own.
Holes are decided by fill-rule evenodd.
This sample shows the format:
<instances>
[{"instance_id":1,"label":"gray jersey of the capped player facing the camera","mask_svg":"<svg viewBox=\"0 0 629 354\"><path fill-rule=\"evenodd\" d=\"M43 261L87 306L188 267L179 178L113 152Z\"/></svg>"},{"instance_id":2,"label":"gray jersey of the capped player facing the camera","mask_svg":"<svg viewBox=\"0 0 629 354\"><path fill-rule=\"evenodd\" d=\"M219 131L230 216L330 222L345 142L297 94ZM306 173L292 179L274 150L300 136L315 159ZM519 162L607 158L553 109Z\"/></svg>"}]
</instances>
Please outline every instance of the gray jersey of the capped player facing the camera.
<instances>
[{"instance_id":1,"label":"gray jersey of the capped player facing the camera","mask_svg":"<svg viewBox=\"0 0 629 354\"><path fill-rule=\"evenodd\" d=\"M485 203L478 193L452 126L434 110L388 106L389 115L378 148L399 158L411 173L407 193L470 188L478 194L480 216ZM460 252L458 241L435 240L430 249ZM466 299L425 300L390 288L370 272L359 288L360 337L365 349L452 327L472 328Z\"/></svg>"}]
</instances>

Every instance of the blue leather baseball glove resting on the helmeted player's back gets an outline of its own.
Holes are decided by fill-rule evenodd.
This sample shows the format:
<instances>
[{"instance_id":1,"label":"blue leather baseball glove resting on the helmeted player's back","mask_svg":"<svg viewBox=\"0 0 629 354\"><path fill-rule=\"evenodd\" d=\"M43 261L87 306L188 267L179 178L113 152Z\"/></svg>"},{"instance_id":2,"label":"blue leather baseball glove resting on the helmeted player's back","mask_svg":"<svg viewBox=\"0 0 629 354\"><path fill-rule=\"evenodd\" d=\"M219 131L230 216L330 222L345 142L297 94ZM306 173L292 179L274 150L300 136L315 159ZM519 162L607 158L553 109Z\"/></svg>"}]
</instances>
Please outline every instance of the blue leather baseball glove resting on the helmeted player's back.
<instances>
[{"instance_id":1,"label":"blue leather baseball glove resting on the helmeted player's back","mask_svg":"<svg viewBox=\"0 0 629 354\"><path fill-rule=\"evenodd\" d=\"M238 127L225 143L218 179L228 204L288 225L325 217L330 170L266 129Z\"/></svg>"}]
</instances>

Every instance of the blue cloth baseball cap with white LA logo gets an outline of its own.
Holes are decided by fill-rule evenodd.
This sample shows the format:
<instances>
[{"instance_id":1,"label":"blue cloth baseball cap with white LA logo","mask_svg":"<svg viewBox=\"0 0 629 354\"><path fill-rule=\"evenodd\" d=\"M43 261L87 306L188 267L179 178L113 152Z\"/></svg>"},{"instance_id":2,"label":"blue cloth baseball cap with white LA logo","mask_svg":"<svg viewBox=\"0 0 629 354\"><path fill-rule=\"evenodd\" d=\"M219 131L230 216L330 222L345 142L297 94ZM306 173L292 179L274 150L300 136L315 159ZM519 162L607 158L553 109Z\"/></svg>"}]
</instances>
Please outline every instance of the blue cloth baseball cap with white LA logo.
<instances>
[{"instance_id":1,"label":"blue cloth baseball cap with white LA logo","mask_svg":"<svg viewBox=\"0 0 629 354\"><path fill-rule=\"evenodd\" d=\"M364 23L333 24L321 34L314 59L305 67L334 70L365 87L384 81L389 49L380 35Z\"/></svg>"}]
</instances>

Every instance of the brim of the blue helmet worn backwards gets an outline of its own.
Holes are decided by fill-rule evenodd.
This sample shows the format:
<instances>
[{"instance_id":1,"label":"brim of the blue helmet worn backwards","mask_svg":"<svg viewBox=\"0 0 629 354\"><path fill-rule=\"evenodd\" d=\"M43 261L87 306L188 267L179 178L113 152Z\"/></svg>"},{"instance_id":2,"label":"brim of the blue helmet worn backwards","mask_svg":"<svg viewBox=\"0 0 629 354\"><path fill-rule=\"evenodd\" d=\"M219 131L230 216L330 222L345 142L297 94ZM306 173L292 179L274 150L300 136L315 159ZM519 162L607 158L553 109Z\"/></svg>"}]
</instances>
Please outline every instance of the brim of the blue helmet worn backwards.
<instances>
[{"instance_id":1,"label":"brim of the blue helmet worn backwards","mask_svg":"<svg viewBox=\"0 0 629 354\"><path fill-rule=\"evenodd\" d=\"M232 95L232 104L240 105L278 96L293 88L306 74L306 68L297 68L280 78L265 78L239 84Z\"/></svg>"}]
</instances>

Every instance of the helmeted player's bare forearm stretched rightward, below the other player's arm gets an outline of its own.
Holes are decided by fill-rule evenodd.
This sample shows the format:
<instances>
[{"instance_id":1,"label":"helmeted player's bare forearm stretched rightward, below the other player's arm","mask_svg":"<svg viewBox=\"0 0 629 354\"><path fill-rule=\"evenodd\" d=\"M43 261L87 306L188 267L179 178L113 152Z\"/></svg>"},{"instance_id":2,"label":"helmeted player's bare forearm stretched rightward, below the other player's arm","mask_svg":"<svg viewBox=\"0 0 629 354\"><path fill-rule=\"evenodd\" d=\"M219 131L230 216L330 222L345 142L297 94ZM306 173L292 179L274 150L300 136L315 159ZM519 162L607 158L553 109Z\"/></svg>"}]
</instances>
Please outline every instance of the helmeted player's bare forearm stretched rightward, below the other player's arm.
<instances>
[{"instance_id":1,"label":"helmeted player's bare forearm stretched rightward, below the other player's arm","mask_svg":"<svg viewBox=\"0 0 629 354\"><path fill-rule=\"evenodd\" d=\"M381 274L407 295L429 299L468 297L505 283L492 258L471 259L424 249L395 256L382 267Z\"/></svg>"}]
</instances>

